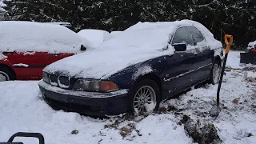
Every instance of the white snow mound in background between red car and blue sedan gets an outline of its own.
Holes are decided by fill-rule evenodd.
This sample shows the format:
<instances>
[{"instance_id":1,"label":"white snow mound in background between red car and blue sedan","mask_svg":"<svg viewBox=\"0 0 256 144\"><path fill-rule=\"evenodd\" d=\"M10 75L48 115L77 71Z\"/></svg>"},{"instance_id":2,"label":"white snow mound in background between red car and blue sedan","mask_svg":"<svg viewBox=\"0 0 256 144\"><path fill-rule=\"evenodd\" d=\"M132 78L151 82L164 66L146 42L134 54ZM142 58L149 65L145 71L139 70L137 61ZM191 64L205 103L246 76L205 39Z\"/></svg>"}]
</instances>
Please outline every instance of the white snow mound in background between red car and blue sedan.
<instances>
[{"instance_id":1,"label":"white snow mound in background between red car and blue sedan","mask_svg":"<svg viewBox=\"0 0 256 144\"><path fill-rule=\"evenodd\" d=\"M105 30L84 29L80 30L78 35L94 43L102 43L111 38L110 33Z\"/></svg>"}]
</instances>

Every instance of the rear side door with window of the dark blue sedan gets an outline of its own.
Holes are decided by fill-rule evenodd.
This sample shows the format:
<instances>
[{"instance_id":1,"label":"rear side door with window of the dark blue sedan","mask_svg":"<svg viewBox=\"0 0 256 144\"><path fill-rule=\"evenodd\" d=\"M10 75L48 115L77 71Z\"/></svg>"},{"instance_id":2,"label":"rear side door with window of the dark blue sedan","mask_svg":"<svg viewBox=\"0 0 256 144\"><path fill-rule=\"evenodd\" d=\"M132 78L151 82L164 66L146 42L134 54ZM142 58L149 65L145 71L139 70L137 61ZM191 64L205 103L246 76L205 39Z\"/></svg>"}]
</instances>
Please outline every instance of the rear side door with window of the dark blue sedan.
<instances>
[{"instance_id":1,"label":"rear side door with window of the dark blue sedan","mask_svg":"<svg viewBox=\"0 0 256 144\"><path fill-rule=\"evenodd\" d=\"M207 44L200 30L194 26L190 26L189 29L196 51L197 63L195 63L194 72L192 73L192 80L196 83L202 81L204 78L209 78L214 50L210 50L210 46Z\"/></svg>"}]
</instances>

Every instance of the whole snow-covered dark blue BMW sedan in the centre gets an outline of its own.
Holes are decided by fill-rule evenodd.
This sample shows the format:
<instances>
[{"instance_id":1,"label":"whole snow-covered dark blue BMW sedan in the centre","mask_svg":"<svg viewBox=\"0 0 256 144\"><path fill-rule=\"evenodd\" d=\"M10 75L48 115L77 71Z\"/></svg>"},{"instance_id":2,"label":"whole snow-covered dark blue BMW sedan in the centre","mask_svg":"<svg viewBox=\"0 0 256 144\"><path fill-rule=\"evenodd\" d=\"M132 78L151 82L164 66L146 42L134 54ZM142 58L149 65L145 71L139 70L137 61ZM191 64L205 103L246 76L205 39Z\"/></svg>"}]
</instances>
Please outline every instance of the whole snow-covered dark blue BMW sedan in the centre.
<instances>
[{"instance_id":1,"label":"whole snow-covered dark blue BMW sedan in the centre","mask_svg":"<svg viewBox=\"0 0 256 144\"><path fill-rule=\"evenodd\" d=\"M218 83L222 56L222 43L198 22L138 22L97 49L46 66L39 87L56 109L142 114L198 83Z\"/></svg>"}]
</instances>

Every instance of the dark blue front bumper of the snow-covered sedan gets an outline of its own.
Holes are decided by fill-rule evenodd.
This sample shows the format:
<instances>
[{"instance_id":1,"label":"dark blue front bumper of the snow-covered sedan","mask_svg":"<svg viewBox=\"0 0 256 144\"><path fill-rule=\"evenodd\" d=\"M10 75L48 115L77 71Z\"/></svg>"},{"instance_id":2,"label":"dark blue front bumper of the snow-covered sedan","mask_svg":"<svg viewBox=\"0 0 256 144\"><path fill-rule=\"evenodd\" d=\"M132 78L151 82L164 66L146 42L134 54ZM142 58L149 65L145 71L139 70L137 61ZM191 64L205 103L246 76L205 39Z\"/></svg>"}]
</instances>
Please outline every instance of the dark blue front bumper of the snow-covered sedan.
<instances>
[{"instance_id":1,"label":"dark blue front bumper of the snow-covered sedan","mask_svg":"<svg viewBox=\"0 0 256 144\"><path fill-rule=\"evenodd\" d=\"M106 116L127 112L128 92L118 90L110 93L63 90L40 81L43 98L55 109L79 114Z\"/></svg>"}]
</instances>

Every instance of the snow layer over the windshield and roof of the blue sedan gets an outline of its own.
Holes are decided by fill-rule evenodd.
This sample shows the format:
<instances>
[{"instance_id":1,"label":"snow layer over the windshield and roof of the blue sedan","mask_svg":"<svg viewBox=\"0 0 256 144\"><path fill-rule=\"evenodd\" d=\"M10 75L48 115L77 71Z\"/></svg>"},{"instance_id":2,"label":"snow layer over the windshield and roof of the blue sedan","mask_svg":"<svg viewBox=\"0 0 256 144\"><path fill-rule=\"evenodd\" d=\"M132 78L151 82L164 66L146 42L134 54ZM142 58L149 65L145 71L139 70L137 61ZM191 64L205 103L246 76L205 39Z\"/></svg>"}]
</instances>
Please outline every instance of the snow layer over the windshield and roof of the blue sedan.
<instances>
[{"instance_id":1,"label":"snow layer over the windshield and roof of the blue sedan","mask_svg":"<svg viewBox=\"0 0 256 144\"><path fill-rule=\"evenodd\" d=\"M214 34L212 34L210 30L202 26L201 23L190 20L175 22L138 22L118 34L118 36L105 42L103 46L145 47L148 45L148 47L153 47L154 49L162 48L162 45L166 46L170 42L175 31L181 26L194 26L200 30L211 49L222 47L222 43L214 38ZM120 45L117 45L116 41L118 41Z\"/></svg>"}]
</instances>

